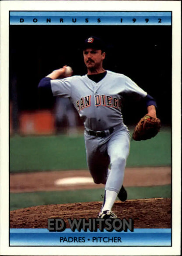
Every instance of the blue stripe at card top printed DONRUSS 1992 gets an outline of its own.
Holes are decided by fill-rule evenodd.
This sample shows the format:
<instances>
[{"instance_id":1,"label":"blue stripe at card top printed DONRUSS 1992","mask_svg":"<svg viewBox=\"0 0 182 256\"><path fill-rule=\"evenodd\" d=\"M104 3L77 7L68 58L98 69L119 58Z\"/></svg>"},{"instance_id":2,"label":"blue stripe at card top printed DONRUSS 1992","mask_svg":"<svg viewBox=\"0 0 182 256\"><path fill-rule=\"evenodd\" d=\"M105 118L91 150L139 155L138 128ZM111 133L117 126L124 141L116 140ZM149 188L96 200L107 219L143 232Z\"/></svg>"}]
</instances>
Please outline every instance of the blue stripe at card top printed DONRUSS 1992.
<instances>
[{"instance_id":1,"label":"blue stripe at card top printed DONRUSS 1992","mask_svg":"<svg viewBox=\"0 0 182 256\"><path fill-rule=\"evenodd\" d=\"M171 25L171 18L169 11L11 11L10 25Z\"/></svg>"}]
</instances>

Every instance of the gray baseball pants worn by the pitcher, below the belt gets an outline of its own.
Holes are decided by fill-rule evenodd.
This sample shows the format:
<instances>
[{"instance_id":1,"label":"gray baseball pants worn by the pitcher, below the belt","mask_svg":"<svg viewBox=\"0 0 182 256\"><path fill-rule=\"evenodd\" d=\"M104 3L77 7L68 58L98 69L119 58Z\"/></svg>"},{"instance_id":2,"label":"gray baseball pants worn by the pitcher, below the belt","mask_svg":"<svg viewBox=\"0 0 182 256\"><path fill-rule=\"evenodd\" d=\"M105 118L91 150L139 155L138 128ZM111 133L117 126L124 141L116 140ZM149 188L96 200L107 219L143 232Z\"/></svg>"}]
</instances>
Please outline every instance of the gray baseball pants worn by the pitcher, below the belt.
<instances>
[{"instance_id":1,"label":"gray baseball pants worn by the pitcher, below the belt","mask_svg":"<svg viewBox=\"0 0 182 256\"><path fill-rule=\"evenodd\" d=\"M119 193L130 151L128 128L119 124L104 138L88 135L85 131L84 139L87 164L94 182L105 184L105 190Z\"/></svg>"}]
</instances>

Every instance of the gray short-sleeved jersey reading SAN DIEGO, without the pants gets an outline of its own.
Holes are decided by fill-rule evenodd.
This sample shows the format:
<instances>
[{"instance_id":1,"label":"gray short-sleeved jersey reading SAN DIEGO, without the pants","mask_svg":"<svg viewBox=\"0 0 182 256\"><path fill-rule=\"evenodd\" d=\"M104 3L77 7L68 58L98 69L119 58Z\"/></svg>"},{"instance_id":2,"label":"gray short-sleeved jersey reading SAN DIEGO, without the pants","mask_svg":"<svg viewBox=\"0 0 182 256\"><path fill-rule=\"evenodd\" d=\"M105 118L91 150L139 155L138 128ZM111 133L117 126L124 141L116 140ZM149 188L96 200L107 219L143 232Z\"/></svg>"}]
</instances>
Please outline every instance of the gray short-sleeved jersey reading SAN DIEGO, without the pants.
<instances>
[{"instance_id":1,"label":"gray short-sleeved jersey reading SAN DIEGO, without the pants","mask_svg":"<svg viewBox=\"0 0 182 256\"><path fill-rule=\"evenodd\" d=\"M140 99L147 95L129 77L107 71L106 76L95 83L87 75L51 80L54 96L70 97L85 128L102 131L123 124L121 113L124 95Z\"/></svg>"}]
</instances>

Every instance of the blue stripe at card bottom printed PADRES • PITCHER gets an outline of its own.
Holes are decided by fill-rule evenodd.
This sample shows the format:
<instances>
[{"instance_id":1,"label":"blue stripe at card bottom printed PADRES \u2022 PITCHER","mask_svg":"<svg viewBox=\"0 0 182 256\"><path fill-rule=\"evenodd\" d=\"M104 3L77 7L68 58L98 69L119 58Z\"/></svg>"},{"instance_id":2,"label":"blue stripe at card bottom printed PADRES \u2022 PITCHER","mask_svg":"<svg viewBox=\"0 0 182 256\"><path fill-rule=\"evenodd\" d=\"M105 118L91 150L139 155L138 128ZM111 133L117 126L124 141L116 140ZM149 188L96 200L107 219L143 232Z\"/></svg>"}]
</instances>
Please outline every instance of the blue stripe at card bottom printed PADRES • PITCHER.
<instances>
[{"instance_id":1,"label":"blue stripe at card bottom printed PADRES \u2022 PITCHER","mask_svg":"<svg viewBox=\"0 0 182 256\"><path fill-rule=\"evenodd\" d=\"M47 229L10 229L10 246L171 246L171 229L134 229L49 232Z\"/></svg>"}]
</instances>

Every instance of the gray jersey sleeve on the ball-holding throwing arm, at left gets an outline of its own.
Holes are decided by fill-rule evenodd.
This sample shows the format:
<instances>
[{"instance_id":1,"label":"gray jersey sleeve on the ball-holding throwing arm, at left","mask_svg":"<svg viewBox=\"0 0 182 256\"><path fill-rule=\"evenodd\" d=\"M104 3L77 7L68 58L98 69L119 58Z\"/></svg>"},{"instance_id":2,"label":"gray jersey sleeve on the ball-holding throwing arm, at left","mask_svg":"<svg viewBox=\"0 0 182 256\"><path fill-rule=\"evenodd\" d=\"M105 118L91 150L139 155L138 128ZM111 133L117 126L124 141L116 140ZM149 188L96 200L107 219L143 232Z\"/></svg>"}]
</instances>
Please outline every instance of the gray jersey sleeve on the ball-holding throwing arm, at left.
<instances>
[{"instance_id":1,"label":"gray jersey sleeve on the ball-holding throwing arm, at left","mask_svg":"<svg viewBox=\"0 0 182 256\"><path fill-rule=\"evenodd\" d=\"M60 96L63 98L71 97L71 79L55 79L51 80L50 83L53 96Z\"/></svg>"}]
</instances>

